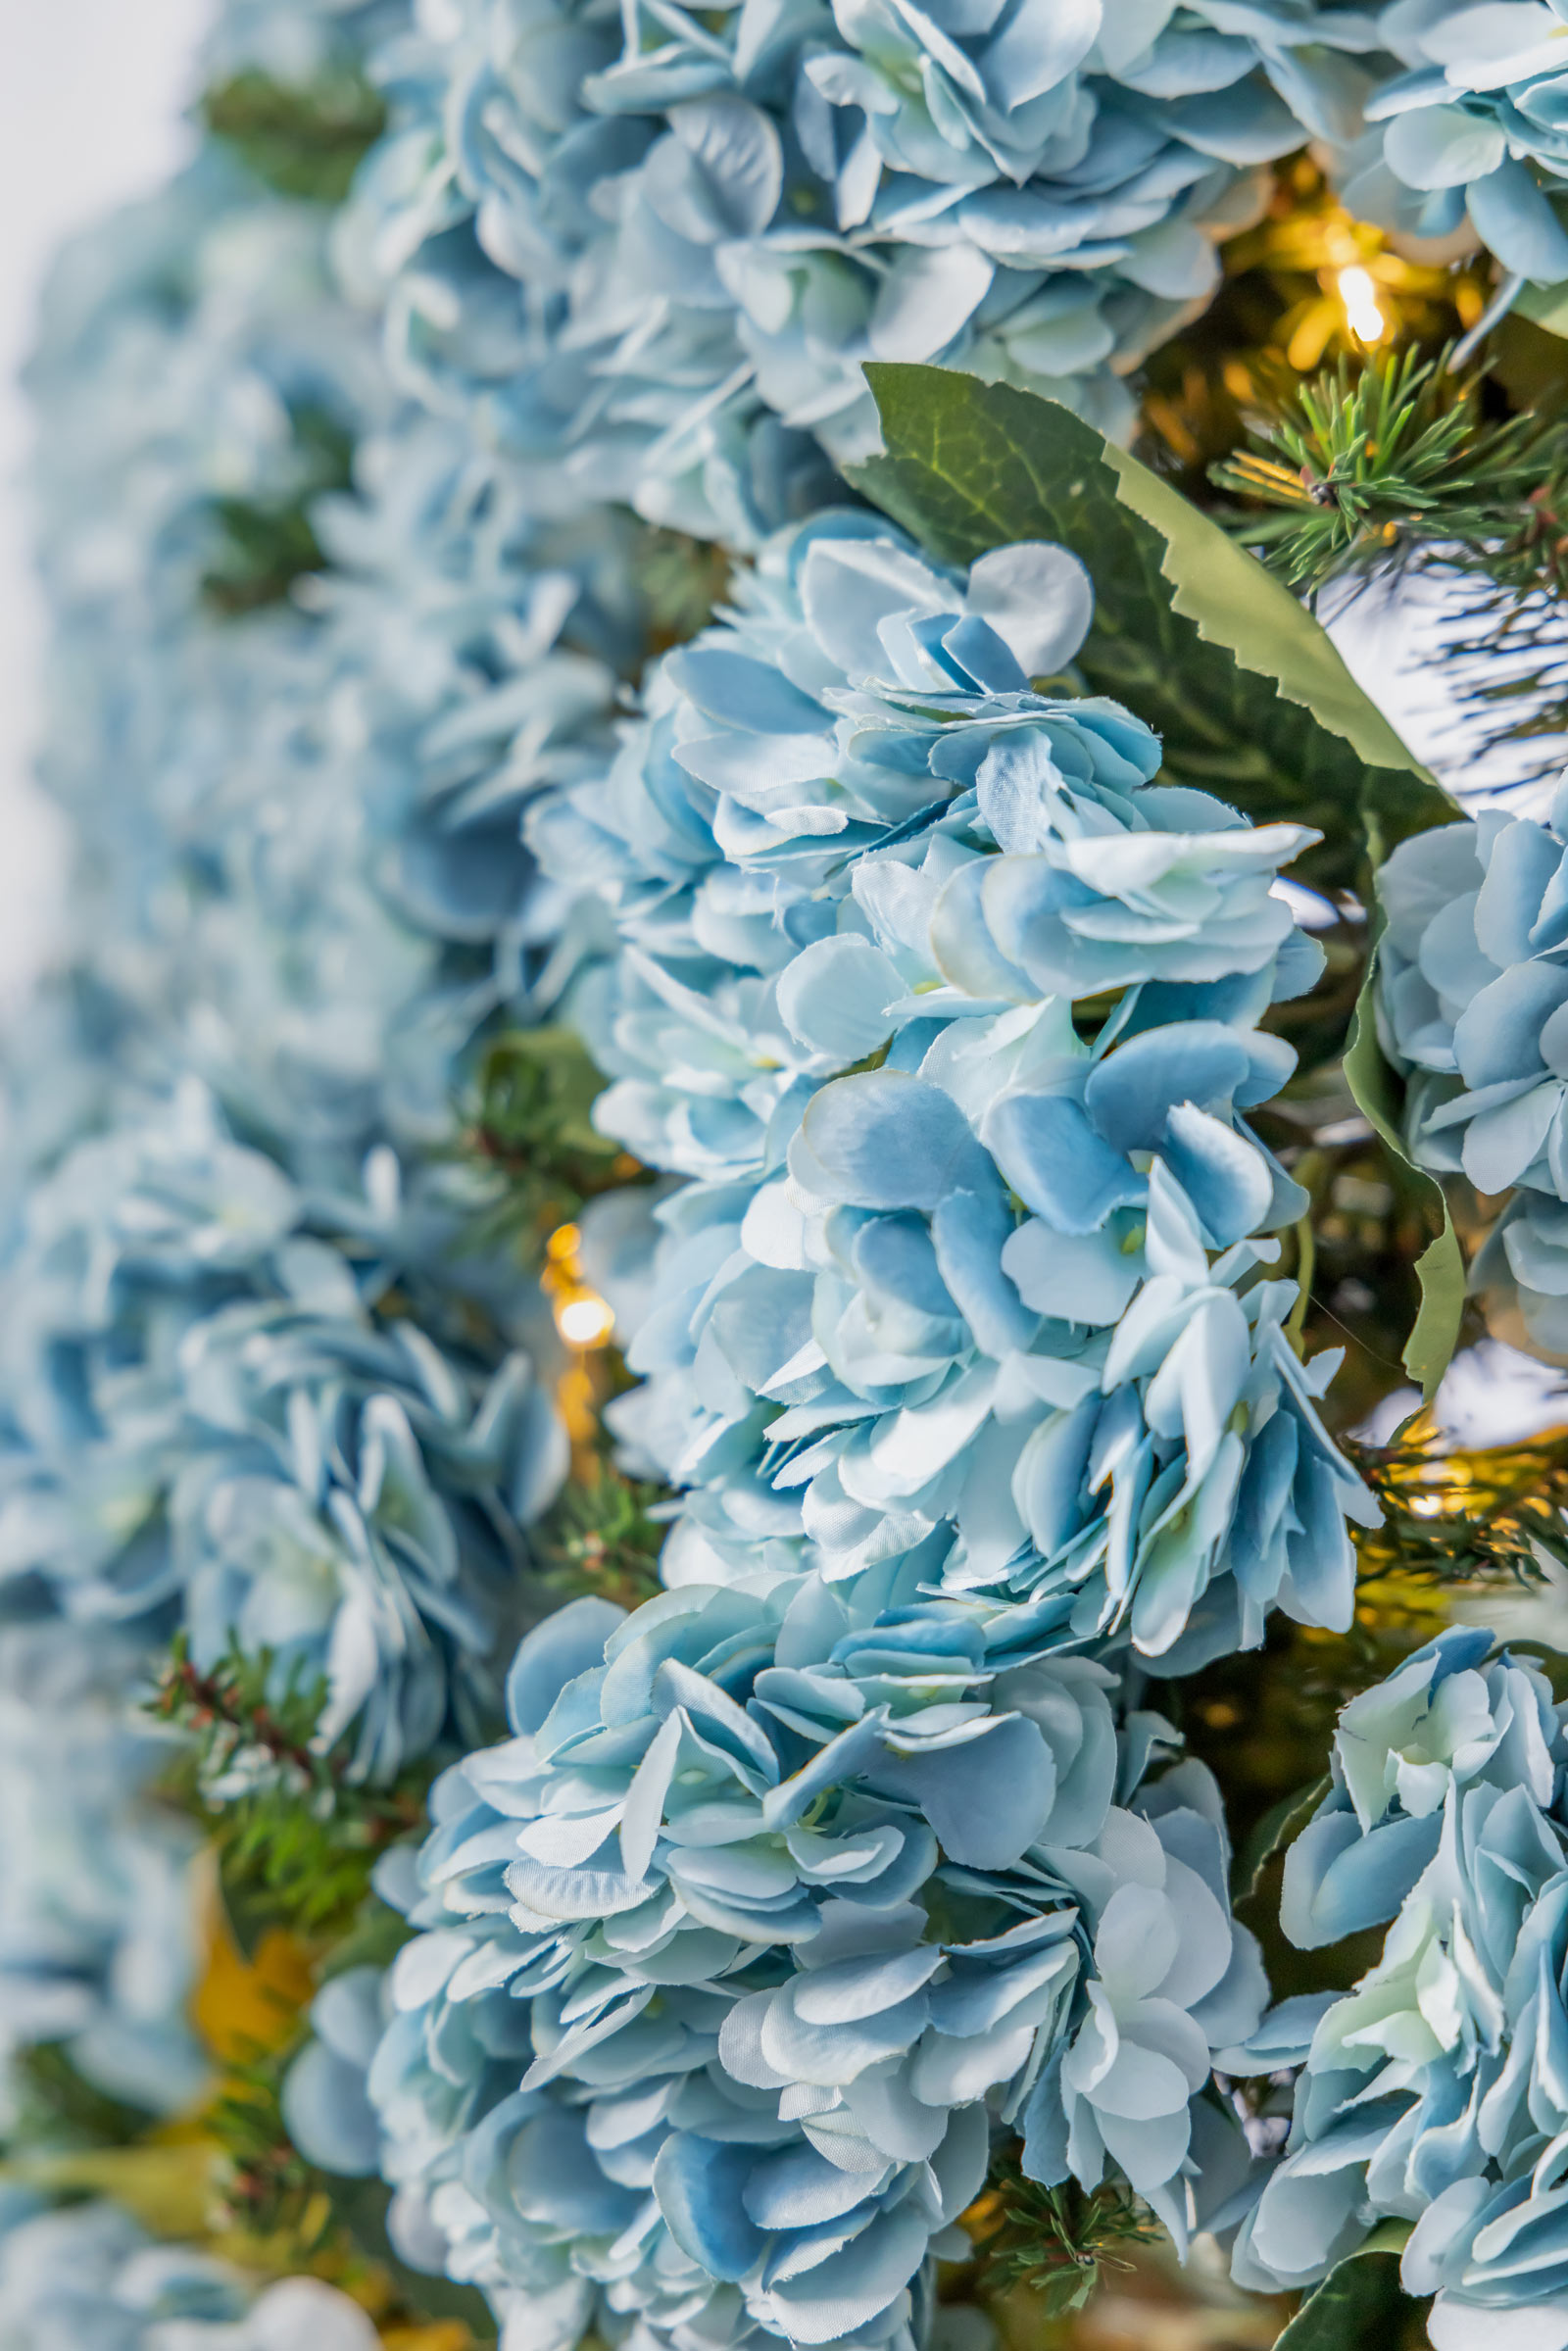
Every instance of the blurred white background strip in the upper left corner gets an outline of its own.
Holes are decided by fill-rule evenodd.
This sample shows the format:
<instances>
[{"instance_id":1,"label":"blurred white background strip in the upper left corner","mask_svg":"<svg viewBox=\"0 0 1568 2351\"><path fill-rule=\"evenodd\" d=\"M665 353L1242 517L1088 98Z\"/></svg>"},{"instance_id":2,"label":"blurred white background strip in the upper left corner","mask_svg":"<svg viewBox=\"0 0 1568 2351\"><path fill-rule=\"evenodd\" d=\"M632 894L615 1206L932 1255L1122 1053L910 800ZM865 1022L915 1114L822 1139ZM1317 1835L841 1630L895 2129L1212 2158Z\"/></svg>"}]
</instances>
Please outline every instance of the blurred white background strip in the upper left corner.
<instances>
[{"instance_id":1,"label":"blurred white background strip in the upper left corner","mask_svg":"<svg viewBox=\"0 0 1568 2351\"><path fill-rule=\"evenodd\" d=\"M42 962L61 839L28 776L42 611L16 371L49 254L183 155L205 0L0 0L0 1018Z\"/></svg>"}]
</instances>

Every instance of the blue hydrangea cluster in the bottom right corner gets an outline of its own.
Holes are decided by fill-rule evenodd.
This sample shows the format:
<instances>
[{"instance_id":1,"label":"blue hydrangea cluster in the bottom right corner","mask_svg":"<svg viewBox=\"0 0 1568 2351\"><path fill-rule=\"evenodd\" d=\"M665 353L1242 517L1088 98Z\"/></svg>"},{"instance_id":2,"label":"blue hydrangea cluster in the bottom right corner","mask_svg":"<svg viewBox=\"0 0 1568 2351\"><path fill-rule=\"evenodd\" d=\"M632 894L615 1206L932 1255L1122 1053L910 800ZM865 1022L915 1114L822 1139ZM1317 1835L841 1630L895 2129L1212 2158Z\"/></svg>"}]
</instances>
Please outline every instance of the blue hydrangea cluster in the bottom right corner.
<instances>
[{"instance_id":1,"label":"blue hydrangea cluster in the bottom right corner","mask_svg":"<svg viewBox=\"0 0 1568 2351\"><path fill-rule=\"evenodd\" d=\"M1439 1634L1345 1709L1284 1923L1307 1947L1394 1925L1354 1991L1269 2027L1309 2048L1244 2283L1324 2276L1392 2217L1439 2351L1568 2344L1566 1763L1540 1667L1488 1632Z\"/></svg>"}]
</instances>

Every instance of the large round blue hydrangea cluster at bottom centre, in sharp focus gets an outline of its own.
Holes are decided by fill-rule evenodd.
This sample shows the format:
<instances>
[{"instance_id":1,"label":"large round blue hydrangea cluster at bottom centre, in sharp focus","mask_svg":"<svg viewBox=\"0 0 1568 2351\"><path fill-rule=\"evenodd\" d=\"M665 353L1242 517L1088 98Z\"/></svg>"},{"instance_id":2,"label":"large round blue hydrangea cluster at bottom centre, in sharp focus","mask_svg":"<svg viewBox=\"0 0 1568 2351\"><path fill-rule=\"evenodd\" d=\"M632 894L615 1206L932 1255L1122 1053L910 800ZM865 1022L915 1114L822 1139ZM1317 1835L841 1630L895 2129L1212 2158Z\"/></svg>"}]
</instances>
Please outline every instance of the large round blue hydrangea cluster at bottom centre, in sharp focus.
<instances>
[{"instance_id":1,"label":"large round blue hydrangea cluster at bottom centre, in sharp focus","mask_svg":"<svg viewBox=\"0 0 1568 2351\"><path fill-rule=\"evenodd\" d=\"M992 2118L1182 2233L1192 2099L1265 1987L1213 1782L1138 1794L1166 1726L1112 1700L1081 1657L997 1674L917 1570L531 1634L515 1737L440 1782L418 1886L383 1874L423 1930L369 2069L409 2257L541 2346L907 2351Z\"/></svg>"}]
</instances>

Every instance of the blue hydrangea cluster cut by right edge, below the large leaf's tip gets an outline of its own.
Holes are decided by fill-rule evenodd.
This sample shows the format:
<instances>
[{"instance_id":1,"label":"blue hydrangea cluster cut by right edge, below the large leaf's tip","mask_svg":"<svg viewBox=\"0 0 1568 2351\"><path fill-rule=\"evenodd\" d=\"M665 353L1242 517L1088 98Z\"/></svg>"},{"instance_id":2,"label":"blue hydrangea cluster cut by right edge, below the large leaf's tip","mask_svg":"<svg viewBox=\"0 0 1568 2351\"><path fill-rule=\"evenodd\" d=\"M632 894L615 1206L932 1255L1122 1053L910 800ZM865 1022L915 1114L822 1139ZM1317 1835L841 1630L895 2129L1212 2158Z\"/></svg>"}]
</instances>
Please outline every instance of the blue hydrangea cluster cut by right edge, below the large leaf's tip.
<instances>
[{"instance_id":1,"label":"blue hydrangea cluster cut by right edge, below the large leaf's tip","mask_svg":"<svg viewBox=\"0 0 1568 2351\"><path fill-rule=\"evenodd\" d=\"M1378 1032L1406 1138L1439 1176L1512 1194L1474 1281L1568 1357L1568 785L1401 842L1378 891Z\"/></svg>"}]
</instances>

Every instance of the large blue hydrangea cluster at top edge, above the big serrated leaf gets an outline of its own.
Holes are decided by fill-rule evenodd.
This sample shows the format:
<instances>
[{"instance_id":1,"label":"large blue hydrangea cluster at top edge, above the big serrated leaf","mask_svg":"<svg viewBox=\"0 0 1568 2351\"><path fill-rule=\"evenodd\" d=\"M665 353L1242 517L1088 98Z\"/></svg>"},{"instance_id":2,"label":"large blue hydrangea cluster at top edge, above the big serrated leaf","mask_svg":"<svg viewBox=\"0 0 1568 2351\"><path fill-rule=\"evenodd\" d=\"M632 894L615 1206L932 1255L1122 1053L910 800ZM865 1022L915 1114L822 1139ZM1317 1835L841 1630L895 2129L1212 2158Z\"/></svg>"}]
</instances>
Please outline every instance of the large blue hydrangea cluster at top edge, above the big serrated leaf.
<instances>
[{"instance_id":1,"label":"large blue hydrangea cluster at top edge, above the big serrated leaf","mask_svg":"<svg viewBox=\"0 0 1568 2351\"><path fill-rule=\"evenodd\" d=\"M1117 374L1211 299L1255 167L1354 134L1378 47L1305 0L752 0L616 33L595 0L421 9L343 249L421 397L731 543L799 510L790 437L875 444L872 357L1131 423Z\"/></svg>"}]
</instances>

